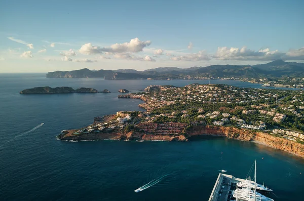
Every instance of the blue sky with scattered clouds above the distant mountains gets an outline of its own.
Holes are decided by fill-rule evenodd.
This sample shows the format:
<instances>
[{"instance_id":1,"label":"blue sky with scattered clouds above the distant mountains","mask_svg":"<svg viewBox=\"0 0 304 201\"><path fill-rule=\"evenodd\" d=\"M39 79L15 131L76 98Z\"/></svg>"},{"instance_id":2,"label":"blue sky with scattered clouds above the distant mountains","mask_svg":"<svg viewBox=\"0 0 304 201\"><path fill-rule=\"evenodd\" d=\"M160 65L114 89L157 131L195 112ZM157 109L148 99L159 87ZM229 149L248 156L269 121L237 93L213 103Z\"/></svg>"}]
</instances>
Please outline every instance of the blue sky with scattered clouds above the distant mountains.
<instances>
[{"instance_id":1,"label":"blue sky with scattered clouds above the distant mountains","mask_svg":"<svg viewBox=\"0 0 304 201\"><path fill-rule=\"evenodd\" d=\"M0 72L304 62L304 1L0 1Z\"/></svg>"}]
</instances>

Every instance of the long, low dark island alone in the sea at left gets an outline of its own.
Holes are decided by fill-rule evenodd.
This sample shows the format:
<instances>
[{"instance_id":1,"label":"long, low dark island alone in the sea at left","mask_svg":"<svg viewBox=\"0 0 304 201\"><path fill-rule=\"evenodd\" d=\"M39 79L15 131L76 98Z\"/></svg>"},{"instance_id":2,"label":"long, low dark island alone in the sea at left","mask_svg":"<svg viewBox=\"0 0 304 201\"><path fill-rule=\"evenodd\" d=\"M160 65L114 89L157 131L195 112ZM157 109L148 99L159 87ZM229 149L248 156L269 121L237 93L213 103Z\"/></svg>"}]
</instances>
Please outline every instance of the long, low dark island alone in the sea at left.
<instances>
[{"instance_id":1,"label":"long, low dark island alone in the sea at left","mask_svg":"<svg viewBox=\"0 0 304 201\"><path fill-rule=\"evenodd\" d=\"M34 87L31 89L25 89L20 92L20 94L68 94L68 93L98 93L96 89L93 88L78 88L74 90L71 87Z\"/></svg>"}]
</instances>

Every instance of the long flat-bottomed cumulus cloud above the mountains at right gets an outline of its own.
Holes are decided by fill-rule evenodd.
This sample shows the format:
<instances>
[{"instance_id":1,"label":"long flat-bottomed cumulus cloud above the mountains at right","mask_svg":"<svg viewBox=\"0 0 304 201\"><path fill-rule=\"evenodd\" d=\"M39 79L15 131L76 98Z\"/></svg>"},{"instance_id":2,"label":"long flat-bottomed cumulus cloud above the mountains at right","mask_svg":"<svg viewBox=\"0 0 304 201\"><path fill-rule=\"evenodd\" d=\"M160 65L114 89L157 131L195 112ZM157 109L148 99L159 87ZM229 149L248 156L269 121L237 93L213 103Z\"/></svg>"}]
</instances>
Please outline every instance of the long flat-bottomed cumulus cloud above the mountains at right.
<instances>
[{"instance_id":1,"label":"long flat-bottomed cumulus cloud above the mountains at right","mask_svg":"<svg viewBox=\"0 0 304 201\"><path fill-rule=\"evenodd\" d=\"M247 47L239 48L227 48L218 47L213 58L219 60L256 60L256 61L271 61L281 59L284 53L280 53L278 50L270 51L269 48L259 51L253 51L247 49Z\"/></svg>"}]
</instances>

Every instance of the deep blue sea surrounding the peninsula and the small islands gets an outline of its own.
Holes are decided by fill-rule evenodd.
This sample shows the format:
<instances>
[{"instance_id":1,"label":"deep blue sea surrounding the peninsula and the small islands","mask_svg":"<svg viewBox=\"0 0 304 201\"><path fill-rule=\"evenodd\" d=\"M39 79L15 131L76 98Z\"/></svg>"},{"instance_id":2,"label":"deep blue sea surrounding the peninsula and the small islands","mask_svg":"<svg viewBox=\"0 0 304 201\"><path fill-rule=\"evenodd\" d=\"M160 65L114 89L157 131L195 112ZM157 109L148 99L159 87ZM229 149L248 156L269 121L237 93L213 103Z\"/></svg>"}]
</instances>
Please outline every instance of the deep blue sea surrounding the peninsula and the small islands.
<instances>
[{"instance_id":1,"label":"deep blue sea surrounding the peninsula and the small islands","mask_svg":"<svg viewBox=\"0 0 304 201\"><path fill-rule=\"evenodd\" d=\"M95 116L140 110L141 100L118 90L209 81L46 78L45 73L0 74L0 200L208 200L219 170L245 178L254 162L269 197L304 200L304 159L253 142L200 137L189 142L85 141L56 138ZM210 83L261 88L240 81ZM103 94L20 95L50 86L108 89ZM286 90L286 89L285 89ZM42 123L44 123L42 125ZM140 192L134 192L136 189Z\"/></svg>"}]
</instances>

